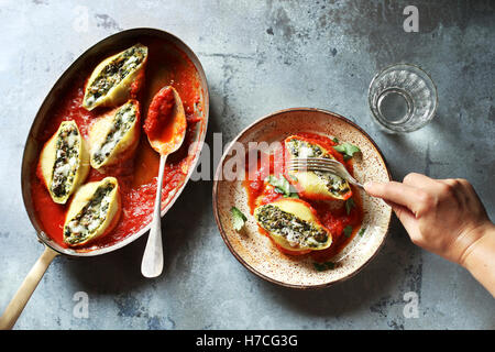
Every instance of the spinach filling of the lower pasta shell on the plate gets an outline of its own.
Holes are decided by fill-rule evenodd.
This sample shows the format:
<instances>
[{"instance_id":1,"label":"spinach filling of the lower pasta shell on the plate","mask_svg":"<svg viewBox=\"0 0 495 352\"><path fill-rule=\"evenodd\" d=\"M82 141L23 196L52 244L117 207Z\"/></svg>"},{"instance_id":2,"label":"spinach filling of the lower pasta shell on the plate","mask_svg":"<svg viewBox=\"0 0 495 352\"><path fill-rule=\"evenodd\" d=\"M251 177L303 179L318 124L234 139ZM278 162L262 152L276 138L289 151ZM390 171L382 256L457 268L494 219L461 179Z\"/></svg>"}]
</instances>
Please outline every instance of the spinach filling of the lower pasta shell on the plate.
<instances>
[{"instance_id":1,"label":"spinach filling of the lower pasta shell on the plate","mask_svg":"<svg viewBox=\"0 0 495 352\"><path fill-rule=\"evenodd\" d=\"M284 237L289 243L318 248L328 241L327 231L273 205L260 207L256 220L263 229Z\"/></svg>"}]
</instances>

